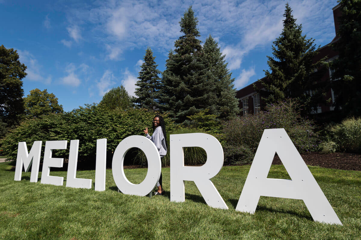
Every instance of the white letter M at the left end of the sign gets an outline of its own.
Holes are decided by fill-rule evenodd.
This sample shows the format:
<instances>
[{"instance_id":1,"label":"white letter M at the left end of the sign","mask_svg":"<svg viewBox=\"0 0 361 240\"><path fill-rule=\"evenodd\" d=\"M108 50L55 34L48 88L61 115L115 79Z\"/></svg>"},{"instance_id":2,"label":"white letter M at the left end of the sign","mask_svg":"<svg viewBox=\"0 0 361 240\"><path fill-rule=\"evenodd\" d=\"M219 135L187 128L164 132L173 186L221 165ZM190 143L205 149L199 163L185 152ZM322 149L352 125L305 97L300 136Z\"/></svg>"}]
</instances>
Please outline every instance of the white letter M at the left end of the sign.
<instances>
[{"instance_id":1,"label":"white letter M at the left end of the sign","mask_svg":"<svg viewBox=\"0 0 361 240\"><path fill-rule=\"evenodd\" d=\"M40 164L40 152L42 151L42 141L35 141L32 144L30 153L27 152L26 142L19 142L18 156L16 159L15 167L15 181L21 180L22 166L24 166L25 172L29 171L31 167L30 182L38 181L39 164Z\"/></svg>"}]
</instances>

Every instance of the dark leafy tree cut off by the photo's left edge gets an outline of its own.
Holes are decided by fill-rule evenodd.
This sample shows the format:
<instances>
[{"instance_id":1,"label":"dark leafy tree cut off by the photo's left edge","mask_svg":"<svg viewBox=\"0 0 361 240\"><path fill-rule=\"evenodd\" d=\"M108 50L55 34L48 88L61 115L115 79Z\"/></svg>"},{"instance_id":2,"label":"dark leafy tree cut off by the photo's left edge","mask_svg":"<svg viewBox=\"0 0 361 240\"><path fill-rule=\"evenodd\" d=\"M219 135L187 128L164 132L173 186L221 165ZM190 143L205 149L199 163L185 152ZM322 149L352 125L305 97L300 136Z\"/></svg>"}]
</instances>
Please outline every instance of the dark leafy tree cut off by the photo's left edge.
<instances>
[{"instance_id":1,"label":"dark leafy tree cut off by the photo's left edge","mask_svg":"<svg viewBox=\"0 0 361 240\"><path fill-rule=\"evenodd\" d=\"M26 66L19 62L16 50L0 46L0 123L8 127L18 123L24 113L22 78L26 76Z\"/></svg>"}]
</instances>

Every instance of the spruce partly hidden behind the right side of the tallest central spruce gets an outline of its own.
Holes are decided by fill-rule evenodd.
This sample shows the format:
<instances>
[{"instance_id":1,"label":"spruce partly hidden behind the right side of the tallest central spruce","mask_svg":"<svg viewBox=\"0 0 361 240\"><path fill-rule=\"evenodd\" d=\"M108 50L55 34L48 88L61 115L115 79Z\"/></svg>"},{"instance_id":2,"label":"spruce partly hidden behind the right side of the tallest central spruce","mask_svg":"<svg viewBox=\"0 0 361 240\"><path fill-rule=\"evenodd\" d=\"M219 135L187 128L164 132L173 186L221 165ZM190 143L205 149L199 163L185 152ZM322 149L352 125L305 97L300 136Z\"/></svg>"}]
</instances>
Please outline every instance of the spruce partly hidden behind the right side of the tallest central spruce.
<instances>
[{"instance_id":1,"label":"spruce partly hidden behind the right side of the tallest central spruce","mask_svg":"<svg viewBox=\"0 0 361 240\"><path fill-rule=\"evenodd\" d=\"M232 73L227 69L228 63L224 60L225 55L222 55L218 42L211 35L204 42L203 53L203 63L215 80L217 115L222 119L236 116L239 108L236 91L233 89L234 78L231 78Z\"/></svg>"}]
</instances>

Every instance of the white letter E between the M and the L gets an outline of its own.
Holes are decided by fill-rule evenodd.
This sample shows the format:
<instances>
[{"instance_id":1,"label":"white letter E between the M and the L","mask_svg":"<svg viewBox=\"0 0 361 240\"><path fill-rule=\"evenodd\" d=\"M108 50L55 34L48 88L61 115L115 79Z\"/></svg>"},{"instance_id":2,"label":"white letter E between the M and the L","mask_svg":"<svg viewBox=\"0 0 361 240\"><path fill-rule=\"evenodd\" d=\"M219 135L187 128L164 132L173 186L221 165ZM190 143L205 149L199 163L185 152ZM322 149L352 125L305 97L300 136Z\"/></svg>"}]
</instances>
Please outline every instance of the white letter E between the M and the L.
<instances>
[{"instance_id":1,"label":"white letter E between the M and the L","mask_svg":"<svg viewBox=\"0 0 361 240\"><path fill-rule=\"evenodd\" d=\"M66 140L45 142L42 180L40 181L42 184L63 185L63 177L50 176L50 167L63 167L64 158L52 158L51 155L53 149L66 149L67 143Z\"/></svg>"}]
</instances>

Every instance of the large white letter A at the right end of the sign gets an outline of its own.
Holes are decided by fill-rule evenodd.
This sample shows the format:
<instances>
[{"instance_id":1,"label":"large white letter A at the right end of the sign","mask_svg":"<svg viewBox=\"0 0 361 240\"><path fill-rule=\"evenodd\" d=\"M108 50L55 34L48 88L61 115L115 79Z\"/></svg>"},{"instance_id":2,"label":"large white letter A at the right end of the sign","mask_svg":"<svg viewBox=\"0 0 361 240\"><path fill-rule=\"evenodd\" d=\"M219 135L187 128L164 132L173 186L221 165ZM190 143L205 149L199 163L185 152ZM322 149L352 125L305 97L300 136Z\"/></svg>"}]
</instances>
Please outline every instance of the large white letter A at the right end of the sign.
<instances>
[{"instance_id":1,"label":"large white letter A at the right end of the sign","mask_svg":"<svg viewBox=\"0 0 361 240\"><path fill-rule=\"evenodd\" d=\"M292 180L267 178L276 152ZM342 225L283 128L263 132L236 210L255 213L260 196L301 199L314 221Z\"/></svg>"}]
</instances>

